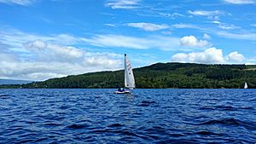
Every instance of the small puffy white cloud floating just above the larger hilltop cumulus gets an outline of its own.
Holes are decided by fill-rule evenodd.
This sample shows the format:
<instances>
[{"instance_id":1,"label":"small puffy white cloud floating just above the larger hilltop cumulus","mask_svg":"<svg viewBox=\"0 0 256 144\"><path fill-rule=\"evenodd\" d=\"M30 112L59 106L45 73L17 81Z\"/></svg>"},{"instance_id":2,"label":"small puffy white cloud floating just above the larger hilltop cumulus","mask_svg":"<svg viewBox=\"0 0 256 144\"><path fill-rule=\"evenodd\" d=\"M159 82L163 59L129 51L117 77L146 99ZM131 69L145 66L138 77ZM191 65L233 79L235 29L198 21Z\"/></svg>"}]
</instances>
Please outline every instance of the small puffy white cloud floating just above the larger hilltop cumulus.
<instances>
[{"instance_id":1,"label":"small puffy white cloud floating just above the larger hilltop cumulus","mask_svg":"<svg viewBox=\"0 0 256 144\"><path fill-rule=\"evenodd\" d=\"M209 45L207 40L198 40L195 36L185 36L179 40L180 45L189 47L206 47Z\"/></svg>"}]
</instances>

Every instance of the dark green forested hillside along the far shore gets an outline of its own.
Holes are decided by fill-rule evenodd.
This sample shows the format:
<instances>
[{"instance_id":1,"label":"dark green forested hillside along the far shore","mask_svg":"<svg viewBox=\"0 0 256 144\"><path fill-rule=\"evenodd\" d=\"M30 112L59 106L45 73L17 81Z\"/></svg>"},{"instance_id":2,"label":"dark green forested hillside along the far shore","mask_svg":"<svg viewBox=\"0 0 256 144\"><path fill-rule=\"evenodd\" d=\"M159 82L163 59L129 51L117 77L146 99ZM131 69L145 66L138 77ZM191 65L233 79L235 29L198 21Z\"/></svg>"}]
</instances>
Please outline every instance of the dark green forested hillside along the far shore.
<instances>
[{"instance_id":1,"label":"dark green forested hillside along the far shore","mask_svg":"<svg viewBox=\"0 0 256 144\"><path fill-rule=\"evenodd\" d=\"M241 89L256 88L256 66L157 63L133 70L137 88ZM117 88L124 85L124 71L90 72L51 78L31 84L1 85L0 88Z\"/></svg>"}]
</instances>

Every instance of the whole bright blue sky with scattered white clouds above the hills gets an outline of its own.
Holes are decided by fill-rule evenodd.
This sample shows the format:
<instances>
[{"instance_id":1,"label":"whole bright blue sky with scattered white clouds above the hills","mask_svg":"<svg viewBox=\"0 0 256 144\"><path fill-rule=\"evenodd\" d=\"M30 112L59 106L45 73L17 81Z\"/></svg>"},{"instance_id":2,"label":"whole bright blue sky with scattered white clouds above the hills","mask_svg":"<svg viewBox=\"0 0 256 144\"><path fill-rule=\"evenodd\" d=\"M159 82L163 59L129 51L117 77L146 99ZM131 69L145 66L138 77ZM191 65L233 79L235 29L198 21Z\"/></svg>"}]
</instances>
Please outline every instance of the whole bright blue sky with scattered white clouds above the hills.
<instances>
[{"instance_id":1,"label":"whole bright blue sky with scattered white clouds above the hills","mask_svg":"<svg viewBox=\"0 0 256 144\"><path fill-rule=\"evenodd\" d=\"M256 0L0 0L0 78L256 63Z\"/></svg>"}]
</instances>

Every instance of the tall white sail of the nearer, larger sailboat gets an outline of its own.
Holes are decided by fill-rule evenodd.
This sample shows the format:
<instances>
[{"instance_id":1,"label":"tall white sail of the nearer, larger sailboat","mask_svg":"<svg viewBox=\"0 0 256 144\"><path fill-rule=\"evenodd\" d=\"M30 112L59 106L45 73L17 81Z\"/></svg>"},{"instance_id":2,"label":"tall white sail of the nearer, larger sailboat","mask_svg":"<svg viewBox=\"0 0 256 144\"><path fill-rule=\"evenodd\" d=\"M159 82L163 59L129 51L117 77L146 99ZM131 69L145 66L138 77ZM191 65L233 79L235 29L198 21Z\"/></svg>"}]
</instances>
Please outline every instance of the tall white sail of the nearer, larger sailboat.
<instances>
[{"instance_id":1,"label":"tall white sail of the nearer, larger sailboat","mask_svg":"<svg viewBox=\"0 0 256 144\"><path fill-rule=\"evenodd\" d=\"M135 88L135 80L131 68L130 60L128 60L125 54L125 88L133 89Z\"/></svg>"}]
</instances>

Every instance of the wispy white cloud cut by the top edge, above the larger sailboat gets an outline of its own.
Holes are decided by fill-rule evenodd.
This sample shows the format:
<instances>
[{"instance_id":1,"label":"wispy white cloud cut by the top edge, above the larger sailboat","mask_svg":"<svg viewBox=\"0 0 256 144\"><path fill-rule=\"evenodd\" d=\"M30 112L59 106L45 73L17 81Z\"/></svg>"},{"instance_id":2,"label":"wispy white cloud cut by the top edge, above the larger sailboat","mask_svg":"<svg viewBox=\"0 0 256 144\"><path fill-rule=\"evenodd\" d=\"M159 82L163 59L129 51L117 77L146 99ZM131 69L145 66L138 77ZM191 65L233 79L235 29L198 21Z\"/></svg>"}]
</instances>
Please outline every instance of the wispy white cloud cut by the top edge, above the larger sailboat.
<instances>
[{"instance_id":1,"label":"wispy white cloud cut by the top edge, above the larger sailboat","mask_svg":"<svg viewBox=\"0 0 256 144\"><path fill-rule=\"evenodd\" d=\"M105 6L112 9L137 9L140 0L109 0Z\"/></svg>"}]
</instances>

